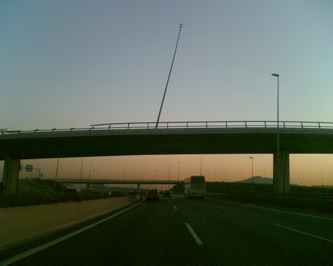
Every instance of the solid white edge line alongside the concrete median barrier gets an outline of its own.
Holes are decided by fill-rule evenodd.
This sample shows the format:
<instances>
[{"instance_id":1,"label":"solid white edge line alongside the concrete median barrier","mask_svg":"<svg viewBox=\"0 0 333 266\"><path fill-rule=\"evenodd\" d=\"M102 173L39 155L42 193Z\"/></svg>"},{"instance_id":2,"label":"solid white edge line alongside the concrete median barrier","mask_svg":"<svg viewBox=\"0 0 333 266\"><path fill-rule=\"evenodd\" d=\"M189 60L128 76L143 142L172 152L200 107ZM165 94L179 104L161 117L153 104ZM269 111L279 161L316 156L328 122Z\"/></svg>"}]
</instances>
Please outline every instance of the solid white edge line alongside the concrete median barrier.
<instances>
[{"instance_id":1,"label":"solid white edge line alongside the concrete median barrier","mask_svg":"<svg viewBox=\"0 0 333 266\"><path fill-rule=\"evenodd\" d=\"M140 202L139 202L139 203L140 203ZM41 250L43 250L43 249L45 249L45 248L48 248L48 247L50 247L50 246L53 246L53 245L55 245L55 244L57 244L57 243L59 243L59 242L61 242L61 241L63 241L63 240L66 240L66 239L68 239L68 238L70 238L70 237L72 237L72 236L74 236L74 235L77 235L77 234L79 234L79 233L81 233L81 232L83 232L83 231L86 231L86 230L90 229L91 227L94 227L94 226L96 226L96 225L98 225L98 224L100 224L100 223L102 223L102 222L105 222L105 221L109 220L109 219L111 219L111 218L117 216L118 214L121 214L121 213L123 213L123 212L129 210L130 208L135 207L135 206L138 205L139 203L137 203L137 204L135 204L135 205L132 205L132 206L130 206L130 207L128 207L128 208L126 208L126 209L124 209L124 210L122 210L122 211L120 211L120 212L117 212L117 213L115 213L115 214L113 214L113 215L111 215L111 216L108 216L108 217L106 217L106 218L104 218L104 219L102 219L102 220L99 220L99 221L97 221L97 222L95 222L95 223L92 223L92 224L90 224L90 225L87 225L86 227L83 227L83 228L81 228L81 229L79 229L79 230L77 230L77 231L74 231L74 232L69 233L69 234L67 234L67 235L64 235L64 236L62 236L62 237L59 237L59 238L57 238L57 239L55 239L55 240L52 240L52 241L50 241L50 242L48 242L48 243L45 243L45 244L43 244L43 245L40 245L40 246L38 246L38 247L32 248L32 249L30 249L30 250L28 250L28 251L22 252L22 253L20 253L20 254L14 256L14 257L11 257L11 258L9 258L9 259L5 259L5 260L3 260L3 261L0 262L0 266L7 266L7 265L10 265L10 264L12 264L12 263L14 263L14 262L16 262L16 261L18 261L18 260L21 260L21 259L23 259L23 258L25 258L25 257L28 257L28 256L30 256L30 255L36 253L36 252L38 252L38 251L41 251Z\"/></svg>"}]
</instances>

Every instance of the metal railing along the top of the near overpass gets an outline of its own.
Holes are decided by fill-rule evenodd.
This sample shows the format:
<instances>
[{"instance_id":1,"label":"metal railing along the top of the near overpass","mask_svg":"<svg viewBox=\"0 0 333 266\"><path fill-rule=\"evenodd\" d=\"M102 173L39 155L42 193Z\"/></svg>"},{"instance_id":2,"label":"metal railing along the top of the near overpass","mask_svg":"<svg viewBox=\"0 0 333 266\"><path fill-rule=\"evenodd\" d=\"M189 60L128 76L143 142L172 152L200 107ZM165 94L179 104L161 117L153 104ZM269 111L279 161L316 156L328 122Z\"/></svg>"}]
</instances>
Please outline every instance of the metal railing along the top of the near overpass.
<instances>
[{"instance_id":1,"label":"metal railing along the top of the near overpass","mask_svg":"<svg viewBox=\"0 0 333 266\"><path fill-rule=\"evenodd\" d=\"M159 122L158 129L169 128L268 128L277 127L277 121L196 121L196 122ZM332 128L333 122L279 121L281 128ZM119 129L155 129L156 122L108 123L91 125L90 128L34 129L28 131L0 129L2 134L26 132L54 132L78 130L119 130Z\"/></svg>"}]
</instances>

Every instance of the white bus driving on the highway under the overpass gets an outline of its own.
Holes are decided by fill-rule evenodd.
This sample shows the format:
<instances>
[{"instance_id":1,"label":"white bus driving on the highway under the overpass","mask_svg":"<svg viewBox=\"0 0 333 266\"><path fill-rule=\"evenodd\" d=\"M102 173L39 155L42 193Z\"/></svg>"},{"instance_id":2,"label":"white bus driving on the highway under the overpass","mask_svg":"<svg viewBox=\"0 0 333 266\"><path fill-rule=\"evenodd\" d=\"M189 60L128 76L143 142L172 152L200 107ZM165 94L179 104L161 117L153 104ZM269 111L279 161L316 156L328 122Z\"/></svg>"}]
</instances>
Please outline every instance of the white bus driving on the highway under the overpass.
<instances>
[{"instance_id":1,"label":"white bus driving on the highway under the overpass","mask_svg":"<svg viewBox=\"0 0 333 266\"><path fill-rule=\"evenodd\" d=\"M206 182L204 176L191 176L184 180L185 198L200 198L206 196Z\"/></svg>"}]
</instances>

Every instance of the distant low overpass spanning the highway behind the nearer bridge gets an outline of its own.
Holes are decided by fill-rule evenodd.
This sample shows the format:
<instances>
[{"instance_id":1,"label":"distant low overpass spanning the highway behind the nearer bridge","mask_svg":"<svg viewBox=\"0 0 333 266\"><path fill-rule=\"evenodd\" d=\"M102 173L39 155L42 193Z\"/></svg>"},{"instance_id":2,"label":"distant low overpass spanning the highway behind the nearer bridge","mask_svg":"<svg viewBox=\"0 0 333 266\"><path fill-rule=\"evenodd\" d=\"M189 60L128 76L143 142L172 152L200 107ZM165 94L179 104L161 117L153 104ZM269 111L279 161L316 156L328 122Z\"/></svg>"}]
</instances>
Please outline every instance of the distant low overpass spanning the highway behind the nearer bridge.
<instances>
[{"instance_id":1,"label":"distant low overpass spanning the highway behind the nearer bridge","mask_svg":"<svg viewBox=\"0 0 333 266\"><path fill-rule=\"evenodd\" d=\"M138 190L140 189L141 185L176 185L181 184L182 180L134 180L134 179L71 179L71 178L58 178L58 182L65 183L65 184L87 184L96 185L96 184L137 184Z\"/></svg>"}]
</instances>

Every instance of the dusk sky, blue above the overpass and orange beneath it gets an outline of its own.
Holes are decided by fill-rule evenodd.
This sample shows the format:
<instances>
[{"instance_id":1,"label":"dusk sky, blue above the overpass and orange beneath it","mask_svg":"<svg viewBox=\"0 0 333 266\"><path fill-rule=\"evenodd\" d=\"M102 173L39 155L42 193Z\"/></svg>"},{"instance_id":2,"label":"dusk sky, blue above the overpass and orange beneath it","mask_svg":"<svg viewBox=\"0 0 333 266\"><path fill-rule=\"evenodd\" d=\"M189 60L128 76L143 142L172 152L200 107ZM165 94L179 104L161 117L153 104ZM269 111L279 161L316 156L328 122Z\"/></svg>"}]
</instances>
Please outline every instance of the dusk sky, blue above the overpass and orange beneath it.
<instances>
[{"instance_id":1,"label":"dusk sky, blue above the overpass and orange beneath it","mask_svg":"<svg viewBox=\"0 0 333 266\"><path fill-rule=\"evenodd\" d=\"M160 122L276 121L272 73L280 121L332 122L332 14L332 1L0 1L0 129L156 121L179 24ZM272 178L267 154L84 158L83 177L176 179L179 162L179 179L201 165L233 182L249 157ZM57 159L21 163L55 176ZM57 176L81 165L61 158ZM322 176L333 185L332 154L290 155L290 183Z\"/></svg>"}]
</instances>

